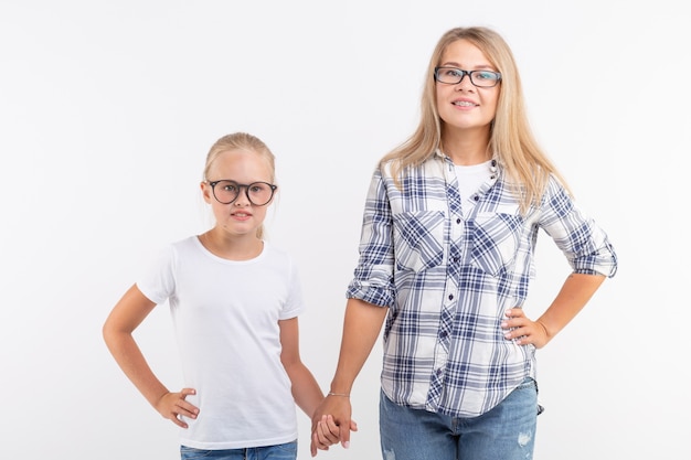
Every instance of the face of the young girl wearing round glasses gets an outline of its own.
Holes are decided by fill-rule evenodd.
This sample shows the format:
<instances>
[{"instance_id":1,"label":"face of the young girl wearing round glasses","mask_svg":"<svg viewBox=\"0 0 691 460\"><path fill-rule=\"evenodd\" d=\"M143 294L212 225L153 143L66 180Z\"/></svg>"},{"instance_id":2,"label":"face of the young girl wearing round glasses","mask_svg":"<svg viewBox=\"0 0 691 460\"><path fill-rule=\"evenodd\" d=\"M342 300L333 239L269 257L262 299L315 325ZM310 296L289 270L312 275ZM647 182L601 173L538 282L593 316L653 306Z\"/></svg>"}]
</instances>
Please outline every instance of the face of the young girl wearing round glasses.
<instances>
[{"instance_id":1,"label":"face of the young girl wearing round glasses","mask_svg":"<svg viewBox=\"0 0 691 460\"><path fill-rule=\"evenodd\" d=\"M238 184L270 183L272 175L270 165L265 158L244 149L226 150L220 153L208 173L210 182L231 180ZM202 182L204 201L211 205L216 218L214 232L223 232L226 237L256 237L270 202L264 206L253 205L247 199L246 190L246 188L241 188L235 201L223 204L214 197L211 184Z\"/></svg>"}]
</instances>

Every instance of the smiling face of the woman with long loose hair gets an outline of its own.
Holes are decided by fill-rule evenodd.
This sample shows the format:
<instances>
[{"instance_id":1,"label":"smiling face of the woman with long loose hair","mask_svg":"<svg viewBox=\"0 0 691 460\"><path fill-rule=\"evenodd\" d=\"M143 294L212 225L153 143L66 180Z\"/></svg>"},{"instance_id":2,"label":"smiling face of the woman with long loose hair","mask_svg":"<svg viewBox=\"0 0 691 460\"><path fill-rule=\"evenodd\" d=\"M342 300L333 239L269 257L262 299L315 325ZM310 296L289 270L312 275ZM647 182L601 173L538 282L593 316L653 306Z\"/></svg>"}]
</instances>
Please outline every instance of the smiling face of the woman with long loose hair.
<instances>
[{"instance_id":1,"label":"smiling face of the woman with long loose hair","mask_svg":"<svg viewBox=\"0 0 691 460\"><path fill-rule=\"evenodd\" d=\"M464 71L491 71L497 68L479 47L467 40L450 43L438 63L439 66ZM480 130L489 133L490 124L497 114L501 83L486 88L477 87L465 75L460 83L436 83L436 101L445 130Z\"/></svg>"}]
</instances>

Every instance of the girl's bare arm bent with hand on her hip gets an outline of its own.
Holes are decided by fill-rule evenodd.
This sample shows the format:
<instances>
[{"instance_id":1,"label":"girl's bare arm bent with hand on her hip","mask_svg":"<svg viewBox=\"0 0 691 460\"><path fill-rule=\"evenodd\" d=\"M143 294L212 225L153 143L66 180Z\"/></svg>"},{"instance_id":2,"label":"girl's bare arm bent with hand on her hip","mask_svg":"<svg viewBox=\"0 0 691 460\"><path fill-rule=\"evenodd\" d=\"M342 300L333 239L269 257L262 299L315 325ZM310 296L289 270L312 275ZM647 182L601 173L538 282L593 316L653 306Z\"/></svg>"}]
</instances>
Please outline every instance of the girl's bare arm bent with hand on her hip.
<instances>
[{"instance_id":1,"label":"girl's bare arm bent with hand on her hip","mask_svg":"<svg viewBox=\"0 0 691 460\"><path fill-rule=\"evenodd\" d=\"M135 329L155 307L156 303L147 299L136 285L130 287L106 319L103 336L117 364L149 404L163 417L187 428L178 416L196 417L199 409L184 400L194 391L184 388L180 393L170 393L156 377L132 336Z\"/></svg>"}]
</instances>

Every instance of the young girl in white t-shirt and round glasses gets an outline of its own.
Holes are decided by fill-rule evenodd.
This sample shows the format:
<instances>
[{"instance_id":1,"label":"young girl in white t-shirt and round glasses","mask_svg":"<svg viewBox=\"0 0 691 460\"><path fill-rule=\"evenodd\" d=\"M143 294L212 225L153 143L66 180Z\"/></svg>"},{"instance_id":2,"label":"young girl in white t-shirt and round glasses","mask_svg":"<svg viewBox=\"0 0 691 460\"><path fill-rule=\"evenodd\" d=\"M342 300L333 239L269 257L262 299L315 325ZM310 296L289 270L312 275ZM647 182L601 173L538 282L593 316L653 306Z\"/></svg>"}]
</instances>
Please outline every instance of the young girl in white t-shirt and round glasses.
<instances>
[{"instance_id":1,"label":"young girl in white t-shirt and round glasses","mask_svg":"<svg viewBox=\"0 0 691 460\"><path fill-rule=\"evenodd\" d=\"M263 239L277 190L274 172L274 156L256 137L219 139L201 182L214 227L170 245L103 328L127 377L183 428L182 459L295 459L295 404L311 416L323 398L300 361L296 266ZM185 387L179 392L156 377L132 338L164 301L181 354ZM325 442L320 448L331 443Z\"/></svg>"}]
</instances>

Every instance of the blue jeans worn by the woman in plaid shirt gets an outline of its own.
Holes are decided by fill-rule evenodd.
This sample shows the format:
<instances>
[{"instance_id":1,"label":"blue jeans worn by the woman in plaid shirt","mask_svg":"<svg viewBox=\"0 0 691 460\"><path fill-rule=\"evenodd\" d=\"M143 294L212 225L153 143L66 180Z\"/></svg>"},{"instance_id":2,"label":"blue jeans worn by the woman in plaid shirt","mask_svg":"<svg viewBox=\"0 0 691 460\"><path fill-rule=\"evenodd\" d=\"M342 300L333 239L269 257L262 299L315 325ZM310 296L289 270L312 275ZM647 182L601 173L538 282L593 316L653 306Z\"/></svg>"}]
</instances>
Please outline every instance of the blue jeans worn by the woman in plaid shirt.
<instances>
[{"instance_id":1,"label":"blue jeans worn by the woman in plaid shirt","mask_svg":"<svg viewBox=\"0 0 691 460\"><path fill-rule=\"evenodd\" d=\"M394 404L382 392L384 460L530 460L538 425L538 386L528 378L497 407L472 418Z\"/></svg>"}]
</instances>

